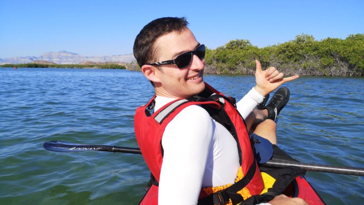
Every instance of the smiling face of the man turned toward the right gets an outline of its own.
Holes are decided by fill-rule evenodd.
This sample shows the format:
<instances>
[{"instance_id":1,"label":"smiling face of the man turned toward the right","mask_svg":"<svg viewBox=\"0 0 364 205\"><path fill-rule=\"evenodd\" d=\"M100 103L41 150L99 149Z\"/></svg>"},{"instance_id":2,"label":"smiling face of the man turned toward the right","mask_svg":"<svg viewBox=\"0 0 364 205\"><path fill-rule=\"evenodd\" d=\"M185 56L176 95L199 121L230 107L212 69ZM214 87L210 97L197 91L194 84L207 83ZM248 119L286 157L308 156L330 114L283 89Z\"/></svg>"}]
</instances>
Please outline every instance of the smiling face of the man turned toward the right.
<instances>
[{"instance_id":1,"label":"smiling face of the man turned toward the right","mask_svg":"<svg viewBox=\"0 0 364 205\"><path fill-rule=\"evenodd\" d=\"M155 49L159 54L158 61L175 59L179 54L193 51L200 44L189 29L172 32L159 37ZM154 83L156 94L170 98L189 98L205 89L202 78L205 59L193 56L191 65L179 69L177 65L160 65L156 70L157 82Z\"/></svg>"}]
</instances>

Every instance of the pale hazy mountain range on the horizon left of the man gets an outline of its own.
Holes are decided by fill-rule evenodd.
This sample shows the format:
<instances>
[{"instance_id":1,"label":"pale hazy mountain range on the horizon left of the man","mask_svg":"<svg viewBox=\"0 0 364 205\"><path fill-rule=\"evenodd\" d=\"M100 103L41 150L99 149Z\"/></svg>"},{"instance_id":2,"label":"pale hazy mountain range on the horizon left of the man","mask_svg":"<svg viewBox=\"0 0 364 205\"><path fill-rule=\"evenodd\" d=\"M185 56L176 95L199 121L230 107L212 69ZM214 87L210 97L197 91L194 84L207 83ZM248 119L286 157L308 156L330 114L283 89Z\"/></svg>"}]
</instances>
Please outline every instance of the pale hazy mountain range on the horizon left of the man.
<instances>
[{"instance_id":1,"label":"pale hazy mountain range on the horizon left of the man","mask_svg":"<svg viewBox=\"0 0 364 205\"><path fill-rule=\"evenodd\" d=\"M132 54L126 55L115 55L115 56L82 56L76 53L71 53L67 51L60 52L48 52L43 53L41 56L27 56L27 57L13 57L13 58L0 58L0 65L3 64L21 64L21 63L31 63L33 61L49 61L56 64L80 64L84 62L95 62L95 63L105 63L105 62L124 62L130 63L135 61Z\"/></svg>"}]
</instances>

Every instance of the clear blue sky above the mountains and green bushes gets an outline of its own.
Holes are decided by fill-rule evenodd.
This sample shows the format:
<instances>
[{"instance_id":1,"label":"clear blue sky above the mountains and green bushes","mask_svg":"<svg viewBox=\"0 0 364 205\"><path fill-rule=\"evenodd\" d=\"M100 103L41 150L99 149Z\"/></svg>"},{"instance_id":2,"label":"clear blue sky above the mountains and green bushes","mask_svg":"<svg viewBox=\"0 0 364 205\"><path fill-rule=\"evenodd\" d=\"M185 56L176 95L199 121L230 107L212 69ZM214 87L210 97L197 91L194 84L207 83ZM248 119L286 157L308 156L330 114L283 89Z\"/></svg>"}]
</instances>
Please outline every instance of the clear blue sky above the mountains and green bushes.
<instances>
[{"instance_id":1,"label":"clear blue sky above the mountains and green bushes","mask_svg":"<svg viewBox=\"0 0 364 205\"><path fill-rule=\"evenodd\" d=\"M131 54L135 36L160 17L186 17L210 49L248 39L259 48L305 33L321 40L364 33L364 1L0 0L0 58L62 50Z\"/></svg>"}]
</instances>

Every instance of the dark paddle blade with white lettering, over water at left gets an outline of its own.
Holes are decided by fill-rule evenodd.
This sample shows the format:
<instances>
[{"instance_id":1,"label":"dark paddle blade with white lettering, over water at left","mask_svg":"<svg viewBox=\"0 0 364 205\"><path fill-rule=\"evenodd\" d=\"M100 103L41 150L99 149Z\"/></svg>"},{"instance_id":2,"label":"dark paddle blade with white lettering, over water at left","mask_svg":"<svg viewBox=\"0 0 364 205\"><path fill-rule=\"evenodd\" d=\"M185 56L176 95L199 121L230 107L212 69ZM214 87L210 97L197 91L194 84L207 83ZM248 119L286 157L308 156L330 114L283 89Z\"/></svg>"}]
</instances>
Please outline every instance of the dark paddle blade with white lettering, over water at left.
<instances>
[{"instance_id":1,"label":"dark paddle blade with white lettering, over water at left","mask_svg":"<svg viewBox=\"0 0 364 205\"><path fill-rule=\"evenodd\" d=\"M57 152L82 152L82 151L108 151L112 149L112 146L98 146L98 145L84 145L74 144L62 141L49 141L43 144L43 147L47 150Z\"/></svg>"}]
</instances>

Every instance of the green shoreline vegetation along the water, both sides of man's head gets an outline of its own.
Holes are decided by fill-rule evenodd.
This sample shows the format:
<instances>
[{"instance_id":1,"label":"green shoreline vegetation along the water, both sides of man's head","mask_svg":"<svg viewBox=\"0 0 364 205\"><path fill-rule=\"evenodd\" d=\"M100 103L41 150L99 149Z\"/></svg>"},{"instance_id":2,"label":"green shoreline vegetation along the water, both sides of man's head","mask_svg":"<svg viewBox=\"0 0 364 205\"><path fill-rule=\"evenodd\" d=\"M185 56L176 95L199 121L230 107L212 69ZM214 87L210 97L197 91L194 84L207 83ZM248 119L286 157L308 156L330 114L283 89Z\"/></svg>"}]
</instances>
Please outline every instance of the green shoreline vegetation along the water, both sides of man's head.
<instances>
[{"instance_id":1,"label":"green shoreline vegetation along the water, both sides of man's head","mask_svg":"<svg viewBox=\"0 0 364 205\"><path fill-rule=\"evenodd\" d=\"M325 38L315 40L312 35L297 35L294 40L258 48L249 40L231 40L216 49L206 48L205 73L254 74L255 59L262 67L274 66L286 75L302 76L364 76L364 34L351 34L345 39ZM55 64L34 61L26 64L4 64L0 67L26 68L108 68L140 71L135 61L83 62L80 64Z\"/></svg>"}]
</instances>

